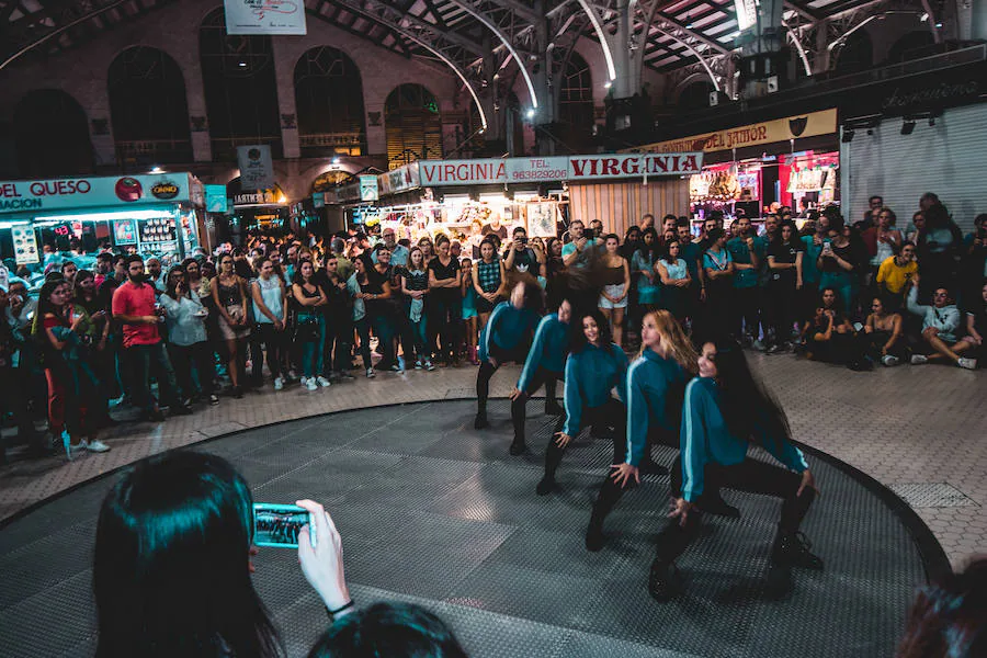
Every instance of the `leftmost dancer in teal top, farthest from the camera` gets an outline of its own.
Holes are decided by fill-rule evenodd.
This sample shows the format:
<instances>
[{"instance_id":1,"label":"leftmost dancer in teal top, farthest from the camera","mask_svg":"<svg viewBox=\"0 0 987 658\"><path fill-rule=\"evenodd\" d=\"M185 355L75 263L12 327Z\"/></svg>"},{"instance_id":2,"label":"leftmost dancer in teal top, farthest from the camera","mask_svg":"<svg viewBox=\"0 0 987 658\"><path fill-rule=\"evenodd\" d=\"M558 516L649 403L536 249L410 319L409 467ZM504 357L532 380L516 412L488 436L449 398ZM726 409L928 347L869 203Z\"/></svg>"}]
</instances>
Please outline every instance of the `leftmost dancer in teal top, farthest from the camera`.
<instances>
[{"instance_id":1,"label":"leftmost dancer in teal top, farthest from the camera","mask_svg":"<svg viewBox=\"0 0 987 658\"><path fill-rule=\"evenodd\" d=\"M481 430L487 420L490 377L509 361L524 363L531 337L545 309L542 288L533 281L521 281L511 290L509 302L494 308L480 336L480 367L476 374L476 419L473 427Z\"/></svg>"}]
</instances>

